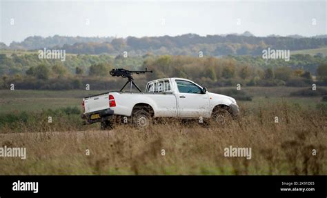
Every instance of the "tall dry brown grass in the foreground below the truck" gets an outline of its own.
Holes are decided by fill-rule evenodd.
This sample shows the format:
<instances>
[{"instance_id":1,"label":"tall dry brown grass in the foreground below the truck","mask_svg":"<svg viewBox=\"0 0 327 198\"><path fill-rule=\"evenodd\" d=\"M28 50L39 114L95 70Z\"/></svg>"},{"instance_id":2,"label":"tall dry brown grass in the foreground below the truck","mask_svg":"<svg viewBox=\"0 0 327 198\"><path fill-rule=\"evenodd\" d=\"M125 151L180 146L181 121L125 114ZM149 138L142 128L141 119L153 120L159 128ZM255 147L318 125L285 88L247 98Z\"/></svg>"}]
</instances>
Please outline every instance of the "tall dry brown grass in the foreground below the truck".
<instances>
[{"instance_id":1,"label":"tall dry brown grass in the foreground below the truck","mask_svg":"<svg viewBox=\"0 0 327 198\"><path fill-rule=\"evenodd\" d=\"M0 134L0 146L27 148L26 160L1 157L0 175L327 174L324 112L283 101L241 110L240 119L223 128L166 123L148 130L43 127ZM224 157L229 146L252 148L252 159Z\"/></svg>"}]
</instances>

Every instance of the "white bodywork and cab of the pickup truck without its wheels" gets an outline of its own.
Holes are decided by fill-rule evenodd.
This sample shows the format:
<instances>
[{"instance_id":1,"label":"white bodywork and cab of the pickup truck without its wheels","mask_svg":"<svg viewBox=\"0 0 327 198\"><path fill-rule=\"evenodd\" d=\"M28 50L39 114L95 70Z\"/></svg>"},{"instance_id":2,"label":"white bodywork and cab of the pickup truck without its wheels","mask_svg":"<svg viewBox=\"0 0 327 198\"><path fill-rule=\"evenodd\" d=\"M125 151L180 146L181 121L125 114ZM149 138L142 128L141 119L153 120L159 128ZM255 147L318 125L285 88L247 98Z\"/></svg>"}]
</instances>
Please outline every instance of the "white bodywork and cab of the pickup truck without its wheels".
<instances>
[{"instance_id":1,"label":"white bodywork and cab of the pickup truck without its wheels","mask_svg":"<svg viewBox=\"0 0 327 198\"><path fill-rule=\"evenodd\" d=\"M110 110L110 115L130 117L135 106L142 105L152 108L152 117L209 118L216 106L229 107L233 117L239 114L232 97L208 92L197 83L181 78L150 81L146 92L107 92L83 99L85 116ZM96 116L99 117L103 116Z\"/></svg>"}]
</instances>

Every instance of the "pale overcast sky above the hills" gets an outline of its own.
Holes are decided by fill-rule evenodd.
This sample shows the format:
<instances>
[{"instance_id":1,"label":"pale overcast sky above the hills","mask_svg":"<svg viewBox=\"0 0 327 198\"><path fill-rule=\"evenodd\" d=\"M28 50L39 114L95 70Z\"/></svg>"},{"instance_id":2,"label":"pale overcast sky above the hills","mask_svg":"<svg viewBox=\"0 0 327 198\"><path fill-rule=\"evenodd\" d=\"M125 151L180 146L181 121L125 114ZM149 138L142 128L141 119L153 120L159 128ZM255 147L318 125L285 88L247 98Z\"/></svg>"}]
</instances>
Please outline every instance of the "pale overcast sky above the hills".
<instances>
[{"instance_id":1,"label":"pale overcast sky above the hills","mask_svg":"<svg viewBox=\"0 0 327 198\"><path fill-rule=\"evenodd\" d=\"M326 1L3 1L0 41L55 34L175 36L326 33ZM14 22L12 25L11 23ZM315 25L314 25L315 23Z\"/></svg>"}]
</instances>

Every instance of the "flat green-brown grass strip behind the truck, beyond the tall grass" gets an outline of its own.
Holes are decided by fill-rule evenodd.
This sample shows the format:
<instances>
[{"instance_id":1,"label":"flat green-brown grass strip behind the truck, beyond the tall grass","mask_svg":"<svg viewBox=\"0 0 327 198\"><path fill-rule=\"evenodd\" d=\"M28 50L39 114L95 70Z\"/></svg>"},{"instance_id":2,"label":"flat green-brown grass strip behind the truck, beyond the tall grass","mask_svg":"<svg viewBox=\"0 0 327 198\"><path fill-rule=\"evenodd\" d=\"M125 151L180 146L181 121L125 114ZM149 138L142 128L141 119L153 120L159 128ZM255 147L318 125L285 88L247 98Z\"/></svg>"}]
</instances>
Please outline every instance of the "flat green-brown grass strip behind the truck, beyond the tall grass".
<instances>
[{"instance_id":1,"label":"flat green-brown grass strip behind the truck, beyond the tall grass","mask_svg":"<svg viewBox=\"0 0 327 198\"><path fill-rule=\"evenodd\" d=\"M229 88L221 88L230 89ZM303 106L314 108L321 101L321 97L290 97L290 92L295 92L303 88L293 87L246 87L242 88L253 96L252 101L238 101L238 103L253 104L265 101L295 101ZM219 93L215 88L209 91ZM38 111L41 109L56 109L68 106L81 108L83 97L106 92L106 90L0 90L0 115L10 112Z\"/></svg>"}]
</instances>

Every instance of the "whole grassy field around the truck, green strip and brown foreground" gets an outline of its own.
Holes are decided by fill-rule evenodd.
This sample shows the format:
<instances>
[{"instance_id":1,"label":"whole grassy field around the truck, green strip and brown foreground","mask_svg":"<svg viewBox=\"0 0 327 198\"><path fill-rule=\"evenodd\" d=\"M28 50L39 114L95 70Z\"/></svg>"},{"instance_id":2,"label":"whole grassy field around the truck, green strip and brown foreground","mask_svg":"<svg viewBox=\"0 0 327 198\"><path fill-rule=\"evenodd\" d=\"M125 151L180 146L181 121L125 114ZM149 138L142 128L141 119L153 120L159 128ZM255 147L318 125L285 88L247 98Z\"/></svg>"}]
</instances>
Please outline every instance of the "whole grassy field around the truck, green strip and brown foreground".
<instances>
[{"instance_id":1,"label":"whole grassy field around the truck, green strip and brown foreground","mask_svg":"<svg viewBox=\"0 0 327 198\"><path fill-rule=\"evenodd\" d=\"M317 108L321 97L289 96L300 89L244 88L253 99L238 101L241 117L229 126L108 131L55 111L80 109L82 97L102 91L0 90L0 147L27 150L25 160L0 157L0 175L326 175L327 111ZM229 146L252 148L252 158L225 157Z\"/></svg>"}]
</instances>

